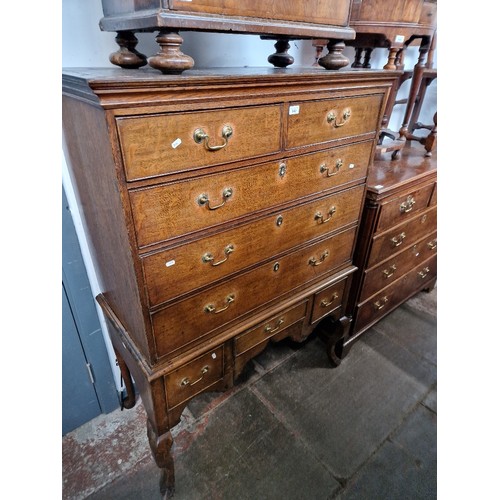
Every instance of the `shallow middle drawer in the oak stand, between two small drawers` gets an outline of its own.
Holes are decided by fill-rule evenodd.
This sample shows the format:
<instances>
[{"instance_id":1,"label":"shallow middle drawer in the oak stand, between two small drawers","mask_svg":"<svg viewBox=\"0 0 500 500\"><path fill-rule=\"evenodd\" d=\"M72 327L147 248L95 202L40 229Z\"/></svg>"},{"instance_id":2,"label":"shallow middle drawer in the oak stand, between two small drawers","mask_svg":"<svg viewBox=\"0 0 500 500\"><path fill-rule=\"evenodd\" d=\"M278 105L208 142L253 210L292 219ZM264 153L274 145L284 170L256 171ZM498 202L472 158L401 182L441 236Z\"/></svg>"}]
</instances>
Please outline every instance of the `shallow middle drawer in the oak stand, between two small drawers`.
<instances>
[{"instance_id":1,"label":"shallow middle drawer in the oak stand, between two small drawers","mask_svg":"<svg viewBox=\"0 0 500 500\"><path fill-rule=\"evenodd\" d=\"M240 354L252 349L257 344L279 335L290 325L304 319L306 314L306 305L307 302L302 302L291 309L273 316L255 328L236 336L234 339L235 356L239 356Z\"/></svg>"}]
</instances>

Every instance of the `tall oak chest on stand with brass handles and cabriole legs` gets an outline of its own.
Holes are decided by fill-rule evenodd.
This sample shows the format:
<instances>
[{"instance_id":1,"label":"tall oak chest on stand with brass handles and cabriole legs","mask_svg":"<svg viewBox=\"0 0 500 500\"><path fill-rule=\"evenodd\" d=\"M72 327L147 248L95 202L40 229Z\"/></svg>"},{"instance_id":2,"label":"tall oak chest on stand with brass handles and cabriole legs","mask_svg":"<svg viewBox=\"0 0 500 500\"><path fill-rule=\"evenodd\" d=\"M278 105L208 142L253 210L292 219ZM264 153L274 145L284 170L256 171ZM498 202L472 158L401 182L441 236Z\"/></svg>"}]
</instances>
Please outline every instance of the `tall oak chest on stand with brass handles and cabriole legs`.
<instances>
[{"instance_id":1,"label":"tall oak chest on stand with brass handles and cabriole legs","mask_svg":"<svg viewBox=\"0 0 500 500\"><path fill-rule=\"evenodd\" d=\"M97 300L167 492L170 429L192 397L230 387L269 341L326 323L327 352L343 343L367 171L398 75L64 73Z\"/></svg>"}]
</instances>

